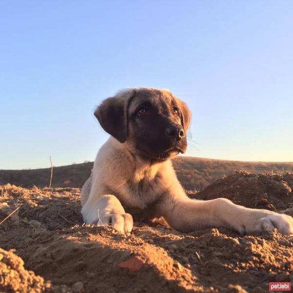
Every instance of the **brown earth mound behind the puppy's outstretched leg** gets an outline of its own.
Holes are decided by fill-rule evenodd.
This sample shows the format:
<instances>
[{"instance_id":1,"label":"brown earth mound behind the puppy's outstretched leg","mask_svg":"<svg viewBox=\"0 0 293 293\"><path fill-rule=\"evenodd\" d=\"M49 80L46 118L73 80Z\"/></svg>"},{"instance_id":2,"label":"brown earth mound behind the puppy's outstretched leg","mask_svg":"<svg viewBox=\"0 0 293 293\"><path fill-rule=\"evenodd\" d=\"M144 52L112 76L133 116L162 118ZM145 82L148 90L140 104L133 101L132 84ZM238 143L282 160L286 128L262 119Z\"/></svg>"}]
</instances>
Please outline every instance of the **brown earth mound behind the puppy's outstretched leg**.
<instances>
[{"instance_id":1,"label":"brown earth mound behind the puppy's outstretched leg","mask_svg":"<svg viewBox=\"0 0 293 293\"><path fill-rule=\"evenodd\" d=\"M218 179L203 191L195 193L197 199L229 198L237 205L248 208L286 211L293 215L293 174L264 174L235 172Z\"/></svg>"}]
</instances>

